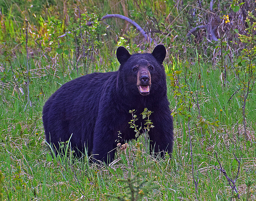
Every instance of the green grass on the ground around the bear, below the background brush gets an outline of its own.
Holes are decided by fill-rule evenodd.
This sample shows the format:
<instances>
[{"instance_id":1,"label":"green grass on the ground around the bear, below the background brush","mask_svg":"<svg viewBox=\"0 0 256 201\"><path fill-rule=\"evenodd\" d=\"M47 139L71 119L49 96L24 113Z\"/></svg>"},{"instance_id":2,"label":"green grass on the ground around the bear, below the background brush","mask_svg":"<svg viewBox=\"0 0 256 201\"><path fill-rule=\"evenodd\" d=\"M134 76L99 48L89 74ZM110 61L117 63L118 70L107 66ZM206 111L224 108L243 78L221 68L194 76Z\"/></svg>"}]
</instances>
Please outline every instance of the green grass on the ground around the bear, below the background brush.
<instances>
[{"instance_id":1,"label":"green grass on the ground around the bear, below the background brush","mask_svg":"<svg viewBox=\"0 0 256 201\"><path fill-rule=\"evenodd\" d=\"M117 69L118 63L114 63L115 58L110 59L113 61L113 66L116 65L115 68L112 66L111 70ZM36 69L32 66L29 84L32 107L25 108L26 79L19 67L21 61L24 65L24 59L20 59L14 60L12 66L14 70L16 69L14 75L18 88L23 89L24 95L17 88L14 90L15 82L8 64L5 71L4 65L1 66L1 77L4 79L2 79L0 90L3 100L0 105L0 170L5 177L4 200L80 200L80 198L81 200L108 200L104 193L124 192L124 184L117 182L117 179L127 178L128 174L124 153L116 154L116 158L121 157L121 160L111 167L90 164L87 157L84 157L84 161L76 158L70 160L68 157L52 159L51 151L44 141L42 107L62 84L77 77L76 72L66 69L63 76L61 70L55 72L52 68ZM29 63L34 61L31 59ZM185 66L181 67L185 68ZM106 67L100 64L97 68L106 71ZM202 64L200 83L195 73L197 66L190 66L190 68L194 73L187 82L190 90L193 91L194 98L196 98L195 93L198 93L201 117L205 122L214 122L216 119L220 121L218 127L211 125L208 128L202 127L201 133L201 127L197 125L198 109L192 96L189 96L193 104L190 133L194 174L198 178L198 200L230 200L231 188L228 187L223 174L214 168L214 165L219 167L215 152L227 175L232 179L236 177L238 167L233 153L241 161L236 186L242 200L245 200L245 179L247 176L252 180L256 179L255 90L249 94L246 104L247 129L251 137L246 140L241 121L243 117L241 93L236 93L228 102L239 83L232 72L229 72L228 86L222 87L219 69ZM181 73L181 75L184 74ZM179 83L185 82L182 76L179 78ZM173 95L168 76L167 82L170 108L175 111L178 99ZM143 149L142 162L155 161L154 165L147 169L148 176L150 178L156 176L155 183L160 186L144 200L195 200L187 120L182 115L176 115L174 128L175 142L171 158L156 159ZM140 140L143 141L142 138ZM136 155L134 141L129 142L127 152L129 164L133 168ZM256 199L255 189L253 184L251 200Z\"/></svg>"}]
</instances>

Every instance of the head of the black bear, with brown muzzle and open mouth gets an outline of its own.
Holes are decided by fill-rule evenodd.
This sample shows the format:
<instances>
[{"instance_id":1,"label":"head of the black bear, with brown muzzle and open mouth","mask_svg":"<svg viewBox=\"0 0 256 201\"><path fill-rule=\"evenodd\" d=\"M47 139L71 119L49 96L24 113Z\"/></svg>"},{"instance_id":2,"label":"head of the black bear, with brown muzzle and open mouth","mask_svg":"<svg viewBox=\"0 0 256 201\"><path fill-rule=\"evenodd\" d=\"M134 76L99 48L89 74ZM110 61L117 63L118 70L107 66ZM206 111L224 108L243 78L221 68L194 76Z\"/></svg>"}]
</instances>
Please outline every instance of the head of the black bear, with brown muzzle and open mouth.
<instances>
[{"instance_id":1,"label":"head of the black bear, with brown muzzle and open mouth","mask_svg":"<svg viewBox=\"0 0 256 201\"><path fill-rule=\"evenodd\" d=\"M166 88L165 71L162 65L166 56L164 45L157 45L152 54L133 54L123 46L116 50L119 72L127 93L147 96L159 88ZM161 84L164 86L161 87ZM135 91L135 89L137 90ZM128 92L129 91L129 92Z\"/></svg>"}]
</instances>

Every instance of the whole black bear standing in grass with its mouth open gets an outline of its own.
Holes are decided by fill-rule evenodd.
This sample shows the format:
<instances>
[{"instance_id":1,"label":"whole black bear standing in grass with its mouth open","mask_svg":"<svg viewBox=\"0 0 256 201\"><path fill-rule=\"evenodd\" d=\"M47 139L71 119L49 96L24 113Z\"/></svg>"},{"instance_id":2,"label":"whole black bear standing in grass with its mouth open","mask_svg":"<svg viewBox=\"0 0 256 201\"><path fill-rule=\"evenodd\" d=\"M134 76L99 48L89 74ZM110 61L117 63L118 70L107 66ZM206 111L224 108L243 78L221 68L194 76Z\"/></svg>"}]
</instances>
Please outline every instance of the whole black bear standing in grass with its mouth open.
<instances>
[{"instance_id":1,"label":"whole black bear standing in grass with its mouth open","mask_svg":"<svg viewBox=\"0 0 256 201\"><path fill-rule=\"evenodd\" d=\"M121 143L135 138L129 110L137 111L137 122L143 125L139 114L144 108L153 112L150 120L154 127L148 133L151 152L171 154L173 121L162 65L165 55L163 45L157 45L152 54L133 55L118 47L118 71L76 78L53 93L44 105L43 123L46 141L55 154L60 142L68 141L72 134L70 143L76 155L86 150L94 161L113 161L118 131Z\"/></svg>"}]
</instances>

